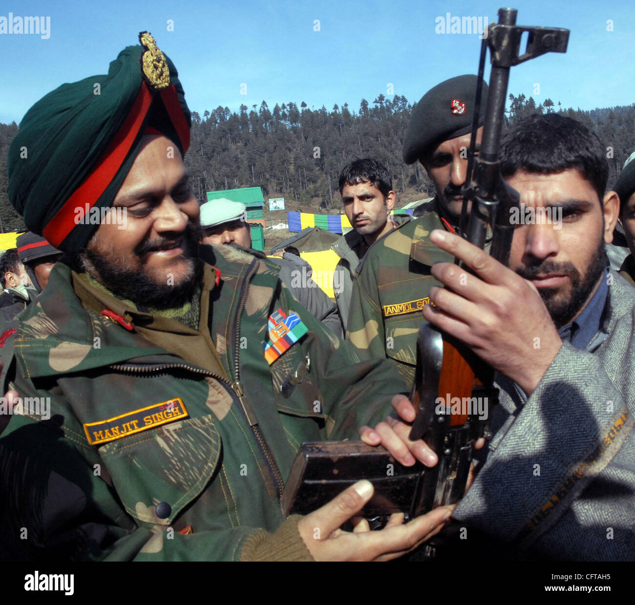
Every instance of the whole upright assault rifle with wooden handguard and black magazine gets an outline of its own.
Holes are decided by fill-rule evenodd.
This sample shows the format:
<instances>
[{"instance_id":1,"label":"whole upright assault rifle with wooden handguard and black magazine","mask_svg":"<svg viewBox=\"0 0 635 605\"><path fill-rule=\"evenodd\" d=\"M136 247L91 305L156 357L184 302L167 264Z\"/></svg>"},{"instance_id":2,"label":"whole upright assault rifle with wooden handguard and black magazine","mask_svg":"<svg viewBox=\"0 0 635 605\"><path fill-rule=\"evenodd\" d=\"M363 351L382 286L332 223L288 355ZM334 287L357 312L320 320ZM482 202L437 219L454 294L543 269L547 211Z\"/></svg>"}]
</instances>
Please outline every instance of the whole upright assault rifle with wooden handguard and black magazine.
<instances>
[{"instance_id":1,"label":"whole upright assault rifle with wooden handguard and black magazine","mask_svg":"<svg viewBox=\"0 0 635 605\"><path fill-rule=\"evenodd\" d=\"M503 264L509 261L514 234L511 209L519 206L518 192L502 179L498 164L509 69L547 52L566 52L569 38L567 29L518 26L517 12L501 8L498 23L490 25L481 44L459 227L460 234L481 249L491 232L490 254ZM521 55L524 32L528 32L528 41ZM487 47L491 55L490 91L481 148L475 157ZM472 208L464 229L469 202ZM431 469L418 462L403 467L384 448L363 442L304 443L284 489L283 512L308 514L359 479L368 479L375 487L363 510L371 528L383 526L393 512L403 512L407 521L439 505L457 502L465 492L474 444L480 437L490 436L485 418L491 416L498 399L493 378L493 369L463 343L424 324L417 337L417 369L411 392L417 417L410 439L424 439L439 462ZM485 402L485 409L480 402Z\"/></svg>"}]
</instances>

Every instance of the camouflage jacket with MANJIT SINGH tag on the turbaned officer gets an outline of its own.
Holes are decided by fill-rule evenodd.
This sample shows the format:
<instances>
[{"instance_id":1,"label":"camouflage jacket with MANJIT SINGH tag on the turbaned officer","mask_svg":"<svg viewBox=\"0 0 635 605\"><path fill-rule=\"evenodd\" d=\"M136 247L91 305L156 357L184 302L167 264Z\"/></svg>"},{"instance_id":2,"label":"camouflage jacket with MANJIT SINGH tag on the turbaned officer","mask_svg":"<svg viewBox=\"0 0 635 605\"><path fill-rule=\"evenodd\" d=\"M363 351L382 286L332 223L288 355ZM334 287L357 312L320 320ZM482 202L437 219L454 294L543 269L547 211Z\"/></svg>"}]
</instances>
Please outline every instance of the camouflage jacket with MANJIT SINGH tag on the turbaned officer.
<instances>
[{"instance_id":1,"label":"camouflage jacket with MANJIT SINGH tag on the turbaned officer","mask_svg":"<svg viewBox=\"0 0 635 605\"><path fill-rule=\"evenodd\" d=\"M204 248L217 276L208 326L228 378L145 340L143 314L126 326L85 309L62 263L0 339L25 397L0 439L0 543L12 558L244 559L250 538L285 525L279 496L299 444L356 437L405 390L390 364L359 362L301 307L277 266ZM269 366L277 309L308 332Z\"/></svg>"}]
</instances>

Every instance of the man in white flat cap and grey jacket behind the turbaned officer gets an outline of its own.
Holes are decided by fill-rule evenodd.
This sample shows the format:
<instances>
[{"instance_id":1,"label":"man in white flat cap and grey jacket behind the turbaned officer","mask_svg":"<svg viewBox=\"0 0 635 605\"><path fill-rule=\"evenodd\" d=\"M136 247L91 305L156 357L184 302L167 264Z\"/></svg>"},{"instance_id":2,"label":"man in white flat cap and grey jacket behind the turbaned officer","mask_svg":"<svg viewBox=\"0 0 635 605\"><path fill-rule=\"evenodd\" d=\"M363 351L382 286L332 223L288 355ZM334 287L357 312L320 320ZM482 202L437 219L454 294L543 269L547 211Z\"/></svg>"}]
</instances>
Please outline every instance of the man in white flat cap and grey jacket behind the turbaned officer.
<instances>
[{"instance_id":1,"label":"man in white flat cap and grey jacket behind the turbaned officer","mask_svg":"<svg viewBox=\"0 0 635 605\"><path fill-rule=\"evenodd\" d=\"M299 256L285 255L285 258L267 257L251 248L250 227L246 223L246 206L221 197L201 206L202 244L230 244L243 251L264 258L280 267L280 281L302 306L328 326L335 334L342 336L342 324L337 305L311 277L311 265Z\"/></svg>"}]
</instances>

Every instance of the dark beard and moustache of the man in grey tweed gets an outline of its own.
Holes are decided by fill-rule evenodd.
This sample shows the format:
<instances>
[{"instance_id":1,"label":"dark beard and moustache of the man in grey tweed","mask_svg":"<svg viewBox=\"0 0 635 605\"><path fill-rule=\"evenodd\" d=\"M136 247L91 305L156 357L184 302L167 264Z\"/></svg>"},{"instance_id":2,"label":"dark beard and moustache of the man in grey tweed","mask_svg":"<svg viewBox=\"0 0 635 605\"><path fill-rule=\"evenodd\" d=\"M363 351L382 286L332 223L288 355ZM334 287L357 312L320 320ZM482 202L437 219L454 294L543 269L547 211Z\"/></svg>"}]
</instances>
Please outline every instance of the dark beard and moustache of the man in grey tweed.
<instances>
[{"instance_id":1,"label":"dark beard and moustache of the man in grey tweed","mask_svg":"<svg viewBox=\"0 0 635 605\"><path fill-rule=\"evenodd\" d=\"M531 267L519 267L516 269L516 273L525 279L532 279L539 275L545 276L549 273L566 275L570 278L571 291L569 296L563 296L561 288L538 288L538 294L540 294L542 302L545 303L556 328L562 328L584 308L608 265L604 237L601 236L598 248L591 256L589 267L584 276L580 275L572 263L554 263L550 260L545 260L539 265Z\"/></svg>"}]
</instances>

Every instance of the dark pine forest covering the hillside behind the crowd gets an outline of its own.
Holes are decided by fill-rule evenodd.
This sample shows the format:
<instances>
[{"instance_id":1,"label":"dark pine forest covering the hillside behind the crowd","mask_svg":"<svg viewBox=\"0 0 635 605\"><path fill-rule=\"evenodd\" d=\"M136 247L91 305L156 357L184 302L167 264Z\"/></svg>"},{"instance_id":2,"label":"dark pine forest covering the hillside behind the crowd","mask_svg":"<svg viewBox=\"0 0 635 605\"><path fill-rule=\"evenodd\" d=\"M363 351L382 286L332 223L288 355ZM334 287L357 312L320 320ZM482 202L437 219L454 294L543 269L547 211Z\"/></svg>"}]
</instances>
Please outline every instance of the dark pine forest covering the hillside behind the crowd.
<instances>
[{"instance_id":1,"label":"dark pine forest covering the hillside behind the crowd","mask_svg":"<svg viewBox=\"0 0 635 605\"><path fill-rule=\"evenodd\" d=\"M535 112L562 111L591 126L607 149L609 187L635 149L635 103L625 107L581 111L562 109L545 99L509 95L507 124ZM200 203L205 192L235 187L262 187L267 197L284 197L286 209L313 208L337 213L340 208L338 178L345 164L359 157L376 157L392 174L398 207L434 194L420 164L406 166L401 145L413 106L404 96L392 100L379 95L372 103L361 100L351 110L347 103L309 109L306 103L276 104L264 101L192 112L192 136L185 164L192 189ZM18 131L17 124L0 124L0 218L3 232L24 229L22 218L9 204L6 156Z\"/></svg>"}]
</instances>

